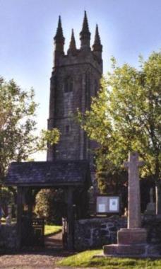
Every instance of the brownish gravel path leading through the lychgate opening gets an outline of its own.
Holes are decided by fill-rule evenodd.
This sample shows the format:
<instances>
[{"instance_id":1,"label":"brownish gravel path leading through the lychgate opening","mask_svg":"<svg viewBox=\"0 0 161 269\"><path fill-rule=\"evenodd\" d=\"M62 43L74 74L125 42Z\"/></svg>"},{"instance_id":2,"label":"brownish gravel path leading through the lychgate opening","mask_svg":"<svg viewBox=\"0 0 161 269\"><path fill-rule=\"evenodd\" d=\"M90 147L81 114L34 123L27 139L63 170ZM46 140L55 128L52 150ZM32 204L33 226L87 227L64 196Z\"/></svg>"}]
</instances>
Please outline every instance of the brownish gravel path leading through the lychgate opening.
<instances>
[{"instance_id":1,"label":"brownish gravel path leading through the lychgate opening","mask_svg":"<svg viewBox=\"0 0 161 269\"><path fill-rule=\"evenodd\" d=\"M57 268L56 261L73 254L62 249L61 233L49 236L45 243L46 247L42 249L1 255L0 269L53 269Z\"/></svg>"}]
</instances>

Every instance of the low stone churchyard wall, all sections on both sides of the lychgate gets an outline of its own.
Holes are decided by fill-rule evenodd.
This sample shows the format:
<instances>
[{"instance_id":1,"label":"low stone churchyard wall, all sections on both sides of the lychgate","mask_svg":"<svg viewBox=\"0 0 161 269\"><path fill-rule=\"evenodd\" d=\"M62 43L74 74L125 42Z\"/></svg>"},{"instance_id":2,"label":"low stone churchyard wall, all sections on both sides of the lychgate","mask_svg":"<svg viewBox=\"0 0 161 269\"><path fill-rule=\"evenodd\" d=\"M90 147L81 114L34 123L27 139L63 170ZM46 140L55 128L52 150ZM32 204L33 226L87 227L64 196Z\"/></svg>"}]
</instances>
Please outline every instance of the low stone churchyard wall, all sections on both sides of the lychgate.
<instances>
[{"instance_id":1,"label":"low stone churchyard wall, all sections on both sides of the lychgate","mask_svg":"<svg viewBox=\"0 0 161 269\"><path fill-rule=\"evenodd\" d=\"M75 222L75 248L100 248L102 244L116 244L117 231L127 226L126 217L112 216L81 219ZM161 216L142 216L142 227L147 229L148 251L152 256L161 254ZM16 225L1 225L0 252L16 250Z\"/></svg>"}]
</instances>

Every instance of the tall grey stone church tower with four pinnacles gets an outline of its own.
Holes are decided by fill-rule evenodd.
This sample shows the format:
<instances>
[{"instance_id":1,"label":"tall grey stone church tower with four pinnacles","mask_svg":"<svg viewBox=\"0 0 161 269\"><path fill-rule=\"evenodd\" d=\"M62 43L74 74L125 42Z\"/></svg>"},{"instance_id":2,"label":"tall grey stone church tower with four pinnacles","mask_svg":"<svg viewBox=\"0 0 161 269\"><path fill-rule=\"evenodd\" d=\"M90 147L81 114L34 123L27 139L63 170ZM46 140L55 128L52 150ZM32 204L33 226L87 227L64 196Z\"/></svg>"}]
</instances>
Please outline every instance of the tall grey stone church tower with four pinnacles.
<instances>
[{"instance_id":1,"label":"tall grey stone church tower with four pinnacles","mask_svg":"<svg viewBox=\"0 0 161 269\"><path fill-rule=\"evenodd\" d=\"M61 18L54 37L54 67L51 77L48 129L57 127L61 132L60 142L49 147L47 161L80 160L91 158L93 142L74 120L79 109L90 109L91 97L99 90L102 76L102 45L96 25L93 50L90 47L90 30L85 12L80 33L81 47L76 48L74 33L68 52L64 53L64 35Z\"/></svg>"}]
</instances>

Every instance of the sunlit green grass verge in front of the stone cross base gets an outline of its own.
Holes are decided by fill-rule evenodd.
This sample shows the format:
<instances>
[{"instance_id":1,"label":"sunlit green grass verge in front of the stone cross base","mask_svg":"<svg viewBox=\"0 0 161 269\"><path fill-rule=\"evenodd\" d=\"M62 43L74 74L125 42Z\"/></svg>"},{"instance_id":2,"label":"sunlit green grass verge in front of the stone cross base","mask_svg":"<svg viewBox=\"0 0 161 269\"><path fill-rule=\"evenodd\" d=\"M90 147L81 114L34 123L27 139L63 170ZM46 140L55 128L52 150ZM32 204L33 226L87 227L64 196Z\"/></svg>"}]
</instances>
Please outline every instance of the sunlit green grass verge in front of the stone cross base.
<instances>
[{"instance_id":1,"label":"sunlit green grass verge in front of the stone cross base","mask_svg":"<svg viewBox=\"0 0 161 269\"><path fill-rule=\"evenodd\" d=\"M93 258L102 253L102 250L83 251L76 255L64 258L57 265L76 267L93 267L104 269L161 269L161 259L135 258Z\"/></svg>"}]
</instances>

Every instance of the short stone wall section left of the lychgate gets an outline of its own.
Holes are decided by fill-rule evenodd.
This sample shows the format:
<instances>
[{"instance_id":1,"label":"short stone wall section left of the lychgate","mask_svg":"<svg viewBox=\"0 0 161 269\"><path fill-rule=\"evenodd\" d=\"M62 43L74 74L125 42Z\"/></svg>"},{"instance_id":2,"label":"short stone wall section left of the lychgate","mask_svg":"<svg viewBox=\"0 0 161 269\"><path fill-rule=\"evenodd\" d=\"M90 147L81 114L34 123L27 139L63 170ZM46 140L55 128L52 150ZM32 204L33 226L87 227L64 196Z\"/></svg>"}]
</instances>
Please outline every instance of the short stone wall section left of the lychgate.
<instances>
[{"instance_id":1,"label":"short stone wall section left of the lychgate","mask_svg":"<svg viewBox=\"0 0 161 269\"><path fill-rule=\"evenodd\" d=\"M1 225L0 251L16 248L16 224Z\"/></svg>"}]
</instances>

